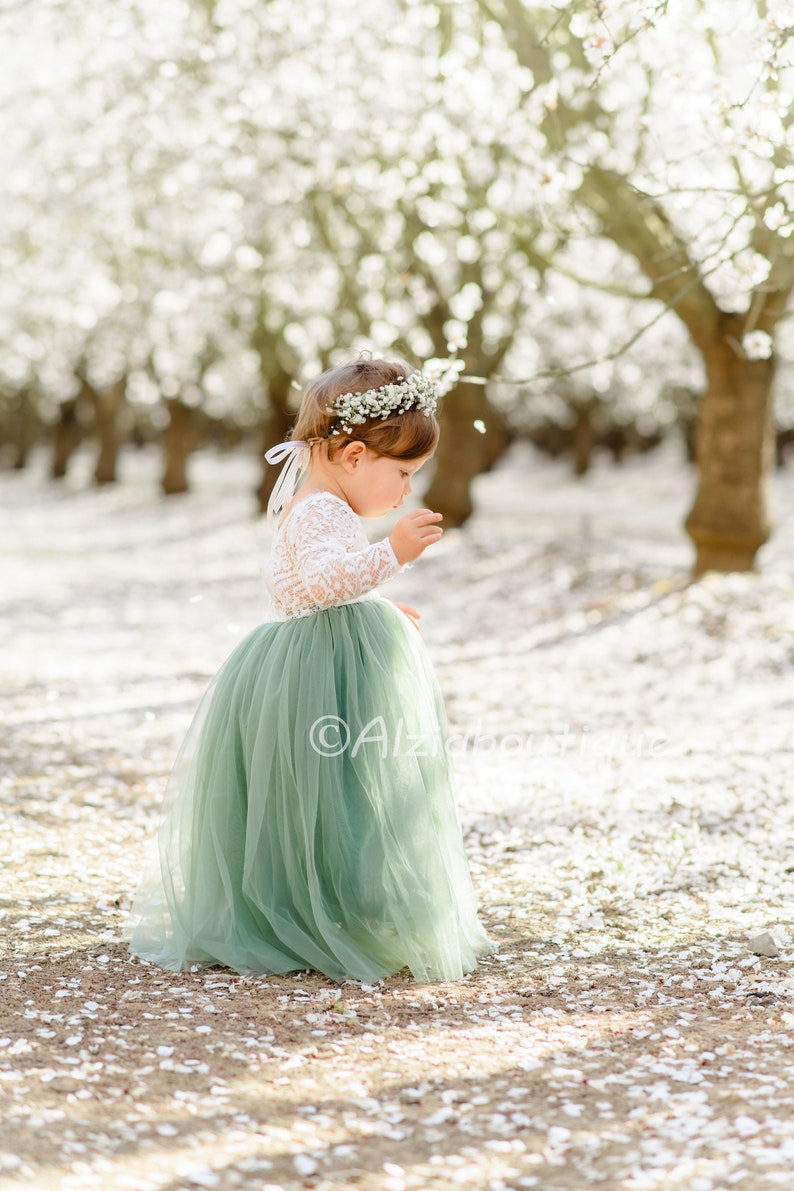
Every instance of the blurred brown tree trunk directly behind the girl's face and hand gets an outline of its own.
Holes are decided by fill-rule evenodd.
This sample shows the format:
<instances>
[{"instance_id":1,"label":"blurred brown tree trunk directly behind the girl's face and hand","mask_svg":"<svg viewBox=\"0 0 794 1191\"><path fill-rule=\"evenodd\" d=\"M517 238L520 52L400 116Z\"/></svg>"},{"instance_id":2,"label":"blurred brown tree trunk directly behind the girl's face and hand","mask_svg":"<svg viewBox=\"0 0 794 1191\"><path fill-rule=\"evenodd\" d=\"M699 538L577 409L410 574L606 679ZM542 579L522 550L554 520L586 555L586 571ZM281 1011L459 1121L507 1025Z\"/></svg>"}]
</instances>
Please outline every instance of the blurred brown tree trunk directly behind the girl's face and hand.
<instances>
[{"instance_id":1,"label":"blurred brown tree trunk directly behind the girl's face and hand","mask_svg":"<svg viewBox=\"0 0 794 1191\"><path fill-rule=\"evenodd\" d=\"M436 470L424 500L443 513L448 529L471 516L471 481L489 470L509 442L505 419L488 401L481 385L459 384L440 404L442 428ZM486 432L476 429L482 422Z\"/></svg>"}]
</instances>

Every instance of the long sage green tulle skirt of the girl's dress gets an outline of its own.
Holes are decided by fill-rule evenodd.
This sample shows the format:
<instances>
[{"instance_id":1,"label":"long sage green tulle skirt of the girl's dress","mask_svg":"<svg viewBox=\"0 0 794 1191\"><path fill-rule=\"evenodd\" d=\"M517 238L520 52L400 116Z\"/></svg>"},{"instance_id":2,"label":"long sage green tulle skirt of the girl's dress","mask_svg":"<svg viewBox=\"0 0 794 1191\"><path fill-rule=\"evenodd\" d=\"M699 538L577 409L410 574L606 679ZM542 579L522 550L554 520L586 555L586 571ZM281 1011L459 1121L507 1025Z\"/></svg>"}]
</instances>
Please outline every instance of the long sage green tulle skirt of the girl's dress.
<instances>
[{"instance_id":1,"label":"long sage green tulle skirt of the girl's dress","mask_svg":"<svg viewBox=\"0 0 794 1191\"><path fill-rule=\"evenodd\" d=\"M127 937L161 967L455 980L490 950L436 676L386 599L240 642L179 754L156 850Z\"/></svg>"}]
</instances>

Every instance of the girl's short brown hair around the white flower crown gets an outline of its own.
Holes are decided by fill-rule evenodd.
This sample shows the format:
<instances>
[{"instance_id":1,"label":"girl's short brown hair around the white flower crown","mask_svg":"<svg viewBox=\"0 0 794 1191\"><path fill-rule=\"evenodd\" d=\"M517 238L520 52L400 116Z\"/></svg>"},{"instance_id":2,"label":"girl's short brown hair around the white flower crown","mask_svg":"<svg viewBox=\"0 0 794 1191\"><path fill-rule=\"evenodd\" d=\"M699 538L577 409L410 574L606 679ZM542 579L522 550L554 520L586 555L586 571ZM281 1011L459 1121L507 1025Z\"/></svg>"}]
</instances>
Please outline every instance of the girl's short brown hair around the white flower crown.
<instances>
[{"instance_id":1,"label":"girl's short brown hair around the white flower crown","mask_svg":"<svg viewBox=\"0 0 794 1191\"><path fill-rule=\"evenodd\" d=\"M392 459L420 459L430 455L438 442L438 423L434 417L420 410L406 410L404 413L395 411L387 418L373 418L355 426L350 434L339 428L338 435L325 438L337 420L333 403L338 397L343 393L365 393L368 388L382 388L383 385L396 385L412 372L408 364L392 360L356 360L331 368L306 389L292 437L308 443L325 441L329 459L333 459L349 442L362 442L376 455L389 455Z\"/></svg>"}]
</instances>

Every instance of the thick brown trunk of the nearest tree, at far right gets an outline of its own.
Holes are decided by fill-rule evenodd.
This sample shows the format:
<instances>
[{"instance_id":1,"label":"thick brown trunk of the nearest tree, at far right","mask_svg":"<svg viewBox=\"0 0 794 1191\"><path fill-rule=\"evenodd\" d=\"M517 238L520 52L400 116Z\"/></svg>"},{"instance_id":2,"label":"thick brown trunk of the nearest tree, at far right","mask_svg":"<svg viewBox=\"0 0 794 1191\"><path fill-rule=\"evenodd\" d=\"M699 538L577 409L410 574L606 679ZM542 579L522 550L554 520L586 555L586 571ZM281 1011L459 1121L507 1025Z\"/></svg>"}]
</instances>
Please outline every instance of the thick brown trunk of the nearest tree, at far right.
<instances>
[{"instance_id":1,"label":"thick brown trunk of the nearest tree, at far right","mask_svg":"<svg viewBox=\"0 0 794 1191\"><path fill-rule=\"evenodd\" d=\"M737 350L743 317L726 314L705 353L708 379L698 425L699 487L686 530L694 572L750 570L770 534L765 478L771 467L773 360Z\"/></svg>"}]
</instances>

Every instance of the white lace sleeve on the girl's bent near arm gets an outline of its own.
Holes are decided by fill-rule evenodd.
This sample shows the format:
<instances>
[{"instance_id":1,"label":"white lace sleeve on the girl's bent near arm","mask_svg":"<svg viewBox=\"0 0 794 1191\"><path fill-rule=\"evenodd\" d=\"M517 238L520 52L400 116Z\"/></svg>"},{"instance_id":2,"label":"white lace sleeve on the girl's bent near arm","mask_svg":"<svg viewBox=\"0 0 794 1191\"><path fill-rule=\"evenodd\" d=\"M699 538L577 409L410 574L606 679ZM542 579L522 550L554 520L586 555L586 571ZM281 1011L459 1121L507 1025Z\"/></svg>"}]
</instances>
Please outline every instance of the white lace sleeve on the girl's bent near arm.
<instances>
[{"instance_id":1,"label":"white lace sleeve on the girl's bent near arm","mask_svg":"<svg viewBox=\"0 0 794 1191\"><path fill-rule=\"evenodd\" d=\"M285 536L317 607L357 599L400 570L389 540L367 544L358 518L340 500L304 501L290 515Z\"/></svg>"}]
</instances>

